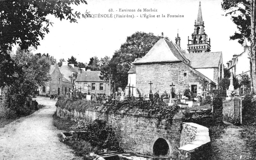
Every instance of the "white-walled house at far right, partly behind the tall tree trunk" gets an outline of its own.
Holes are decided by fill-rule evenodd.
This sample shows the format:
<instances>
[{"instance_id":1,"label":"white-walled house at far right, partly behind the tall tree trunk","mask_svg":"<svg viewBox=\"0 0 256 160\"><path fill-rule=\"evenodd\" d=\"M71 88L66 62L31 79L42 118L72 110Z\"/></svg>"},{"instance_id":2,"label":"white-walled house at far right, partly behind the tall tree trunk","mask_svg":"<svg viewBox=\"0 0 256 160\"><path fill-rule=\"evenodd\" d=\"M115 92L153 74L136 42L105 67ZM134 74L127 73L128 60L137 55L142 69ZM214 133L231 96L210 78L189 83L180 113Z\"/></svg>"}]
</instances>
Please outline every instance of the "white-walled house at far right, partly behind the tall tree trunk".
<instances>
[{"instance_id":1,"label":"white-walled house at far right, partly behind the tall tree trunk","mask_svg":"<svg viewBox=\"0 0 256 160\"><path fill-rule=\"evenodd\" d=\"M228 70L233 73L233 75L241 79L242 74L247 74L250 77L250 59L249 59L249 49L250 46L244 46L244 52L240 54L234 54L232 60L227 62Z\"/></svg>"}]
</instances>

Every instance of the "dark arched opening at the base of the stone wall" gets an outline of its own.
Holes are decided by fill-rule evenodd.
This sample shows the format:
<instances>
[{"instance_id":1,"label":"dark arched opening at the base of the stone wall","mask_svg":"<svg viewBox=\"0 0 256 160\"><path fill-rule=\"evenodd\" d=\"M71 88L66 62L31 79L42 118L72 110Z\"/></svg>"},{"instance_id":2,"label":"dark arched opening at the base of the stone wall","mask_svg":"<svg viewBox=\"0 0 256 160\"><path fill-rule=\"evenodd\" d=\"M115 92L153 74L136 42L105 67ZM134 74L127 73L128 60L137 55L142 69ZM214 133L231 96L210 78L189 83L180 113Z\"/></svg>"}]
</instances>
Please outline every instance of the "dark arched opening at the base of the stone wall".
<instances>
[{"instance_id":1,"label":"dark arched opening at the base of the stone wall","mask_svg":"<svg viewBox=\"0 0 256 160\"><path fill-rule=\"evenodd\" d=\"M158 138L153 146L153 156L169 156L170 148L166 140Z\"/></svg>"}]
</instances>

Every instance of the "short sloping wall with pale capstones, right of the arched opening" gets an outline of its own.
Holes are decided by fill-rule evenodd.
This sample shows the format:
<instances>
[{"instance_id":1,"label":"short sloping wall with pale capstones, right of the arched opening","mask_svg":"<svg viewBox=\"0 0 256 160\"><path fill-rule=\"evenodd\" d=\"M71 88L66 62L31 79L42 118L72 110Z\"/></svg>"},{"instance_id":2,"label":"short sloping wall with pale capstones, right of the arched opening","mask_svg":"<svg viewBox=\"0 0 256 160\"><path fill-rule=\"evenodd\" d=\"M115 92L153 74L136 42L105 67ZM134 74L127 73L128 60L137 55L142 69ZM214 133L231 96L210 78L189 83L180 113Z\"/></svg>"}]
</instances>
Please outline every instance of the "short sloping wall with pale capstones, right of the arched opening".
<instances>
[{"instance_id":1,"label":"short sloping wall with pale capstones, right of the arched opening","mask_svg":"<svg viewBox=\"0 0 256 160\"><path fill-rule=\"evenodd\" d=\"M209 159L209 129L195 123L183 123L180 136L179 160Z\"/></svg>"}]
</instances>

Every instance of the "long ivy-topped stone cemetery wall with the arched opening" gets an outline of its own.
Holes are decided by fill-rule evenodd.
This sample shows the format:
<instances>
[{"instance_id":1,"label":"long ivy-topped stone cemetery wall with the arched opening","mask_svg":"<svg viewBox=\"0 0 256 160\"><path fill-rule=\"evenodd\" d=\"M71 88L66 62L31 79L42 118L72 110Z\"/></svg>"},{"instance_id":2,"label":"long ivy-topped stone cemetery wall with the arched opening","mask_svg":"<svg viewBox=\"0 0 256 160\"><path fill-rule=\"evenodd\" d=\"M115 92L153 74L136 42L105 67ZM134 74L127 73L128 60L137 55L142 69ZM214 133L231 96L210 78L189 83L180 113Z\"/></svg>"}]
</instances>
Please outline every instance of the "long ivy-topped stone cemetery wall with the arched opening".
<instances>
[{"instance_id":1,"label":"long ivy-topped stone cemetery wall with the arched opening","mask_svg":"<svg viewBox=\"0 0 256 160\"><path fill-rule=\"evenodd\" d=\"M105 120L112 126L120 147L125 152L154 156L153 146L156 140L159 138L164 139L169 147L169 156L177 159L179 155L185 153L182 148L179 149L180 146L192 143L193 140L196 140L198 133L196 128L199 126L198 124L185 123L194 125L184 127L183 122L193 122L202 118L216 121L217 123L222 122L222 98L214 98L213 102L215 100L218 102L221 100L221 104L213 103L213 110L178 110L171 121L158 119L156 116L149 116L147 112L141 109L124 108L118 111L107 112L103 106L98 106L94 109L90 108L83 112L77 112L76 110L68 111L57 107L57 116L64 119L70 118L73 121L83 121L85 124L91 123L97 118ZM191 156L200 153L198 148L200 147L197 147L193 154L191 152Z\"/></svg>"}]
</instances>

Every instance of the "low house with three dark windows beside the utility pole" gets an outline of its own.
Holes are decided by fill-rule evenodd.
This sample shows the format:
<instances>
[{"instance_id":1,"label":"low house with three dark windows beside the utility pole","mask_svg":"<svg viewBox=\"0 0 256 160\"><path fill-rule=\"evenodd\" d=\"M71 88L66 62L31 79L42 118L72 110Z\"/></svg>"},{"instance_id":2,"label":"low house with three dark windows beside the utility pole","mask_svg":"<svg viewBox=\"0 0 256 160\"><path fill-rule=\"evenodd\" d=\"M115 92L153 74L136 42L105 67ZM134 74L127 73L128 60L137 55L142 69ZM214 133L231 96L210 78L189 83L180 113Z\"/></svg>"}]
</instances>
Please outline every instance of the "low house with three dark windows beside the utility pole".
<instances>
[{"instance_id":1,"label":"low house with three dark windows beside the utility pole","mask_svg":"<svg viewBox=\"0 0 256 160\"><path fill-rule=\"evenodd\" d=\"M100 71L81 71L76 78L76 89L81 93L109 94L109 83L100 79Z\"/></svg>"}]
</instances>

